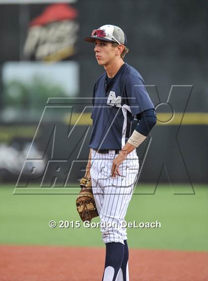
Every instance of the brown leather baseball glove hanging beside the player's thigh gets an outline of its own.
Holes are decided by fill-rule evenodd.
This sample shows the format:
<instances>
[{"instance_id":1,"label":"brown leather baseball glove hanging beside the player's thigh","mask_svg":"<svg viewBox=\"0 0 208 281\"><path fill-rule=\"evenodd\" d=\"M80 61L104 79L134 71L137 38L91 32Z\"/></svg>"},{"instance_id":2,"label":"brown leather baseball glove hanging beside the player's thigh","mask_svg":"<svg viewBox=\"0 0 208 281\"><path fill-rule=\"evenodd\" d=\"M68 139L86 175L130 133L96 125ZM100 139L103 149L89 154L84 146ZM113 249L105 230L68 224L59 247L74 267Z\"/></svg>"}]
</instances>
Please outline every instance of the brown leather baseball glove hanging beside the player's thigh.
<instances>
[{"instance_id":1,"label":"brown leather baseball glove hanging beside the player's thigh","mask_svg":"<svg viewBox=\"0 0 208 281\"><path fill-rule=\"evenodd\" d=\"M77 211L82 221L90 221L98 216L95 198L93 196L91 179L83 177L80 180L81 191L76 200Z\"/></svg>"}]
</instances>

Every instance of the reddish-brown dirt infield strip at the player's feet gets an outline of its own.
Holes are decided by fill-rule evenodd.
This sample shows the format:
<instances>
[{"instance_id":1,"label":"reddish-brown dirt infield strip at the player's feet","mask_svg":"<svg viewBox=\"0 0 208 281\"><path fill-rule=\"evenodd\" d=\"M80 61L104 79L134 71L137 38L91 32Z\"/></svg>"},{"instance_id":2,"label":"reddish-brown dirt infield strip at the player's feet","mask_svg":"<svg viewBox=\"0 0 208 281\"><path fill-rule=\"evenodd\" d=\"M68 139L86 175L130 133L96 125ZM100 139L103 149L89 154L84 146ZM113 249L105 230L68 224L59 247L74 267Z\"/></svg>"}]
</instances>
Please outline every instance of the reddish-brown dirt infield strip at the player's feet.
<instances>
[{"instance_id":1,"label":"reddish-brown dirt infield strip at the player's feet","mask_svg":"<svg viewBox=\"0 0 208 281\"><path fill-rule=\"evenodd\" d=\"M205 252L130 249L130 281L207 281ZM101 281L104 248L0 246L0 281Z\"/></svg>"}]
</instances>

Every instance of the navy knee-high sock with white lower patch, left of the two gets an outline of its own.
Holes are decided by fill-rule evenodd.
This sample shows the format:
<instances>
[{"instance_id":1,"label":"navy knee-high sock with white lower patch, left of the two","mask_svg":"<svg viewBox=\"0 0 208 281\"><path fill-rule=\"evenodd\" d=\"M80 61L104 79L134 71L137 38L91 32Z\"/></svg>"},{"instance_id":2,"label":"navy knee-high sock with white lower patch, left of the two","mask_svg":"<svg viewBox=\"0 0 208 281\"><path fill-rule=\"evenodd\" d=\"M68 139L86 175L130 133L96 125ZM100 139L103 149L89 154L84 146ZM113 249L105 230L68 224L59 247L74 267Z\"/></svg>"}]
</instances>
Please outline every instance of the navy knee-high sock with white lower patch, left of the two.
<instances>
[{"instance_id":1,"label":"navy knee-high sock with white lower patch, left of the two","mask_svg":"<svg viewBox=\"0 0 208 281\"><path fill-rule=\"evenodd\" d=\"M119 242L106 243L104 275L102 281L115 281L124 257L124 245Z\"/></svg>"}]
</instances>

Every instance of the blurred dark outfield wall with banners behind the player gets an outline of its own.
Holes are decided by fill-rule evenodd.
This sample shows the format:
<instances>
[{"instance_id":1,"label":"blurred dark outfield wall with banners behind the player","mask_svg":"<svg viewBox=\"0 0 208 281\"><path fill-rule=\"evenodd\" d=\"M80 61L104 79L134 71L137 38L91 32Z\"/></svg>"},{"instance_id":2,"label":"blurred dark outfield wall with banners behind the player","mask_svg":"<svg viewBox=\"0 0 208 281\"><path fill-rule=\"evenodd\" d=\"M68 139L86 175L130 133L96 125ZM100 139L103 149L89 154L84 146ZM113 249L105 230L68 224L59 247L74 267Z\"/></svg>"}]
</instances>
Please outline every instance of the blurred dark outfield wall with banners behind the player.
<instances>
[{"instance_id":1,"label":"blurred dark outfield wall with banners behind the player","mask_svg":"<svg viewBox=\"0 0 208 281\"><path fill-rule=\"evenodd\" d=\"M138 148L138 183L188 183L190 192L194 182L206 183L205 6L194 0L151 5L140 0L1 0L1 181L15 183L22 171L21 180L34 183L28 182L34 163L22 170L29 155L36 162L37 183L51 160L66 161L65 173L76 162L72 183L83 175L92 128L90 98L104 72L93 44L83 38L109 23L126 33L130 51L125 61L143 76L157 111L157 125ZM74 124L73 138L67 139ZM50 185L52 178L53 171ZM65 180L59 175L55 185L64 186Z\"/></svg>"}]
</instances>

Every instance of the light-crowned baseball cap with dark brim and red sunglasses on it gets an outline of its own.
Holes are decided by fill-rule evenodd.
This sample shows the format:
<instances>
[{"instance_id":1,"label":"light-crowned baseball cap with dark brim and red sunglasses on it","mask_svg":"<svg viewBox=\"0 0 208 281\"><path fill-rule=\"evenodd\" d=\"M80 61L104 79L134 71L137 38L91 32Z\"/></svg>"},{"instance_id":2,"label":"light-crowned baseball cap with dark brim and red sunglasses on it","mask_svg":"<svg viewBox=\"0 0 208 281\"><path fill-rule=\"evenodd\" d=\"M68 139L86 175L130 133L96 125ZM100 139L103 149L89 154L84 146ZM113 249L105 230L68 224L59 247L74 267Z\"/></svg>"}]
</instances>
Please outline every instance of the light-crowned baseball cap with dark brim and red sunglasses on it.
<instances>
[{"instance_id":1,"label":"light-crowned baseball cap with dark brim and red sunglasses on it","mask_svg":"<svg viewBox=\"0 0 208 281\"><path fill-rule=\"evenodd\" d=\"M96 39L103 41L117 42L118 44L127 44L125 33L115 25L106 24L93 30L91 37L86 37L84 41L94 43Z\"/></svg>"}]
</instances>

